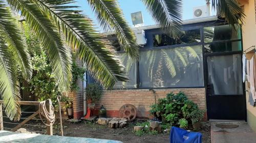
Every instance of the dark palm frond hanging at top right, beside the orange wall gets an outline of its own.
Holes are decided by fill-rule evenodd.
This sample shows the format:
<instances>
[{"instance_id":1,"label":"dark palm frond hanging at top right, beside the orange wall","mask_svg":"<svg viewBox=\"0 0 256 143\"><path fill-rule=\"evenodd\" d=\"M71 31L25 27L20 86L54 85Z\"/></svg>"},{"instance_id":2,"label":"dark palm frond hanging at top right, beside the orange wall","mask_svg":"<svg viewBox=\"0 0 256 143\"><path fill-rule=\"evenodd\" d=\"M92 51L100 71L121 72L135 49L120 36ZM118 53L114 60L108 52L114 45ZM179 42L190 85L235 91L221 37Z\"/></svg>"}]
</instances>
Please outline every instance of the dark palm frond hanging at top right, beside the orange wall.
<instances>
[{"instance_id":1,"label":"dark palm frond hanging at top right, beside the orange wall","mask_svg":"<svg viewBox=\"0 0 256 143\"><path fill-rule=\"evenodd\" d=\"M209 0L206 0L209 2ZM212 8L217 9L221 16L234 28L234 24L243 23L245 14L237 0L211 0Z\"/></svg>"}]
</instances>

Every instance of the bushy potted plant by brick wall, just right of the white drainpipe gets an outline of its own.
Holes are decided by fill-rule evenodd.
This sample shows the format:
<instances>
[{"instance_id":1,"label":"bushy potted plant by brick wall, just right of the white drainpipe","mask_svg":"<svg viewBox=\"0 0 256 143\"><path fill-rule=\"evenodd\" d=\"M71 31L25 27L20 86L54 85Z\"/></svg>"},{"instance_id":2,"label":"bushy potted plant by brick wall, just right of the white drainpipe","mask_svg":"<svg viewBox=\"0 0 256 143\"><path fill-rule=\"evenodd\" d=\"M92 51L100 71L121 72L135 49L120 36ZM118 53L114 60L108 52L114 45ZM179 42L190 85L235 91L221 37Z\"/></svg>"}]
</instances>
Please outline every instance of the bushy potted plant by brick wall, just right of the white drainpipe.
<instances>
[{"instance_id":1,"label":"bushy potted plant by brick wall, just right of the white drainpipe","mask_svg":"<svg viewBox=\"0 0 256 143\"><path fill-rule=\"evenodd\" d=\"M90 83L86 87L86 99L88 104L94 104L99 102L102 97L102 89L99 84Z\"/></svg>"}]
</instances>

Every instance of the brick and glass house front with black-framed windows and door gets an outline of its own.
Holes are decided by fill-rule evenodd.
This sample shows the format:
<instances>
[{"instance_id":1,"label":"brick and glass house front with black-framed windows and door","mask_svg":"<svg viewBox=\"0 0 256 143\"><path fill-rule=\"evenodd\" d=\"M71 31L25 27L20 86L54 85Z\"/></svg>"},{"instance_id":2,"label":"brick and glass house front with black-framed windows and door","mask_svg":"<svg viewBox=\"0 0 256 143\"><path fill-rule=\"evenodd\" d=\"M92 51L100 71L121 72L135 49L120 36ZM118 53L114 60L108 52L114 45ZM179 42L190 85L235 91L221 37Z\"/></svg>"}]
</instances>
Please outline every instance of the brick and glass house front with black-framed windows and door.
<instances>
[{"instance_id":1,"label":"brick and glass house front with black-framed windows and door","mask_svg":"<svg viewBox=\"0 0 256 143\"><path fill-rule=\"evenodd\" d=\"M120 47L120 59L129 82L105 91L98 104L108 117L119 117L124 104L133 104L138 118L151 118L150 105L167 93L183 92L201 109L205 119L246 121L245 83L242 81L242 30L216 16L183 21L180 39L170 38L156 25L142 26L146 44L139 61L129 59ZM115 41L114 37L110 40ZM81 86L95 82L88 73ZM74 98L74 118L86 114L85 94ZM85 99L85 98L83 98ZM97 115L98 109L93 110Z\"/></svg>"}]
</instances>

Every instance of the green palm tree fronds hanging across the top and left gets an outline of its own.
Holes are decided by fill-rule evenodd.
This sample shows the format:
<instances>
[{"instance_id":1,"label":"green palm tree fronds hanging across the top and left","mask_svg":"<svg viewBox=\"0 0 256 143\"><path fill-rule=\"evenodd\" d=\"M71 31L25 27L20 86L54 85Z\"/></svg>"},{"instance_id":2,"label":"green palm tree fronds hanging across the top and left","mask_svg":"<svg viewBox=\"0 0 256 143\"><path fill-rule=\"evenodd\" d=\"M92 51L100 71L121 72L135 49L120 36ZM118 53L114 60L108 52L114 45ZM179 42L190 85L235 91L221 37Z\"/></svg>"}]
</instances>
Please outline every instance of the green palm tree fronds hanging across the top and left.
<instances>
[{"instance_id":1,"label":"green palm tree fronds hanging across the top and left","mask_svg":"<svg viewBox=\"0 0 256 143\"><path fill-rule=\"evenodd\" d=\"M181 23L180 0L141 0L172 37L179 35ZM73 0L0 0L0 93L4 100L7 116L20 117L19 85L17 69L27 80L31 78L31 61L24 42L22 29L13 18L12 12L19 13L36 33L47 52L53 74L60 92L70 89L71 48L86 64L90 73L106 89L116 81L126 81L121 62L115 58L116 51L110 42L99 34L88 16L71 6ZM138 46L131 27L123 18L115 0L88 0L97 14L101 26L116 32L120 45L132 59L138 59ZM243 13L237 1L212 0L212 6L220 9L230 24L237 23ZM69 48L71 47L71 48Z\"/></svg>"}]
</instances>

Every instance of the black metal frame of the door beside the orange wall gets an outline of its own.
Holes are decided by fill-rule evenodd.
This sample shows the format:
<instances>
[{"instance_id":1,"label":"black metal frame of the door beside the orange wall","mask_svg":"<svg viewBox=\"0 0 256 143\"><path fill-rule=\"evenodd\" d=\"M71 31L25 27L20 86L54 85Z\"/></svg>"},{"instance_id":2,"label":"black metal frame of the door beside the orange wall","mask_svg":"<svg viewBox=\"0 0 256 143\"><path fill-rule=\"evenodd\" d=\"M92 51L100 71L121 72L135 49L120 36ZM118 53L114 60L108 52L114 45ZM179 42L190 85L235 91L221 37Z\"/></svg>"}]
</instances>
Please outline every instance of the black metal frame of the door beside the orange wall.
<instances>
[{"instance_id":1,"label":"black metal frame of the door beside the orange wall","mask_svg":"<svg viewBox=\"0 0 256 143\"><path fill-rule=\"evenodd\" d=\"M207 57L208 56L214 56L214 55L231 55L231 54L240 54L241 55L241 69L242 69L242 66L243 66L243 64L242 64L242 54L243 54L243 52L242 51L228 51L228 52L215 52L215 53L204 53L204 80L205 80L205 93L206 93L206 108L207 108L207 118L208 118L208 120L211 120L211 119L209 119L209 97L210 96L214 96L214 95L209 95L209 90L208 90L208 63L207 63ZM242 74L243 74L243 72L242 72ZM247 121L247 113L246 113L246 96L245 96L245 83L243 82L242 83L242 85L243 85L243 101L242 102L244 102L244 105L245 105L245 107L244 107L244 117L243 117L243 119L244 119L244 121ZM236 95L225 95L226 97L230 97L231 98L231 96L236 96Z\"/></svg>"}]
</instances>

